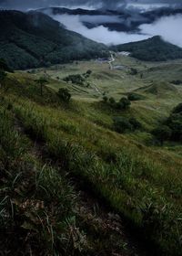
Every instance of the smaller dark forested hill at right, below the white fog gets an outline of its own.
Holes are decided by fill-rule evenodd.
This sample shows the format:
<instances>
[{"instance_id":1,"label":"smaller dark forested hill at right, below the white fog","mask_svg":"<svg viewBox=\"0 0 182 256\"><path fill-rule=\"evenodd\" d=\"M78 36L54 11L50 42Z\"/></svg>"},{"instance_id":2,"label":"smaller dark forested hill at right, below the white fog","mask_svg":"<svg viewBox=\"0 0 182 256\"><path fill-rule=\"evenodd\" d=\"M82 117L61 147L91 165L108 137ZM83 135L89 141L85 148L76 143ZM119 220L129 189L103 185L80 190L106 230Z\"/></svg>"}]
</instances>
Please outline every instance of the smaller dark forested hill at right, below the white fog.
<instances>
[{"instance_id":1,"label":"smaller dark forested hill at right, below the white fog","mask_svg":"<svg viewBox=\"0 0 182 256\"><path fill-rule=\"evenodd\" d=\"M161 37L133 42L112 47L117 51L129 51L136 59L147 61L165 61L167 59L182 58L182 48L165 42Z\"/></svg>"}]
</instances>

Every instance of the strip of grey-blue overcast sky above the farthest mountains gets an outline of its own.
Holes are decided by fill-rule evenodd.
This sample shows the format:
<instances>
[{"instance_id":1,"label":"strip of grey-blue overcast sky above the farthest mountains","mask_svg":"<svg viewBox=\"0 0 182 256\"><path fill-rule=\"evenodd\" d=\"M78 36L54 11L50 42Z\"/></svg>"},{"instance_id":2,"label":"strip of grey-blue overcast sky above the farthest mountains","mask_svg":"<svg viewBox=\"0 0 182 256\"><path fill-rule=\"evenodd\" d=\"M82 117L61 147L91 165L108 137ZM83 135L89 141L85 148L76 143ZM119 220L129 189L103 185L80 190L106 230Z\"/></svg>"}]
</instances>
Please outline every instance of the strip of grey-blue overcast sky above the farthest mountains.
<instances>
[{"instance_id":1,"label":"strip of grey-blue overcast sky above the farthest mountains","mask_svg":"<svg viewBox=\"0 0 182 256\"><path fill-rule=\"evenodd\" d=\"M26 9L45 7L50 5L67 5L79 6L90 5L93 7L104 6L109 8L116 8L118 5L126 4L182 4L181 0L0 0L0 7Z\"/></svg>"}]
</instances>

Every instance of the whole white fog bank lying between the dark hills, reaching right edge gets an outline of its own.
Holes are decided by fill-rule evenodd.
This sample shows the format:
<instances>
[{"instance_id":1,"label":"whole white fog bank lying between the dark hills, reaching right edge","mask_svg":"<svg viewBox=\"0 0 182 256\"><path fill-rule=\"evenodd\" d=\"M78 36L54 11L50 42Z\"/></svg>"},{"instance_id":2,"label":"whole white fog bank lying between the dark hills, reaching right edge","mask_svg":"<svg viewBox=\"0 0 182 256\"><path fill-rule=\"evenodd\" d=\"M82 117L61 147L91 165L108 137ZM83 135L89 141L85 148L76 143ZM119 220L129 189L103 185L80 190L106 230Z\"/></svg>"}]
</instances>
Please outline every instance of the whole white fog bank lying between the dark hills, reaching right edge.
<instances>
[{"instance_id":1,"label":"whole white fog bank lying between the dark hills, reaching right edge","mask_svg":"<svg viewBox=\"0 0 182 256\"><path fill-rule=\"evenodd\" d=\"M148 37L161 36L166 41L182 48L182 15L165 16L159 18L153 24L143 24L139 27L140 33L126 33L110 31L102 25L87 28L83 22L119 22L118 16L72 16L72 15L56 15L54 19L65 25L68 30L75 31L84 37L95 40L106 45L125 44L147 39Z\"/></svg>"}]
</instances>

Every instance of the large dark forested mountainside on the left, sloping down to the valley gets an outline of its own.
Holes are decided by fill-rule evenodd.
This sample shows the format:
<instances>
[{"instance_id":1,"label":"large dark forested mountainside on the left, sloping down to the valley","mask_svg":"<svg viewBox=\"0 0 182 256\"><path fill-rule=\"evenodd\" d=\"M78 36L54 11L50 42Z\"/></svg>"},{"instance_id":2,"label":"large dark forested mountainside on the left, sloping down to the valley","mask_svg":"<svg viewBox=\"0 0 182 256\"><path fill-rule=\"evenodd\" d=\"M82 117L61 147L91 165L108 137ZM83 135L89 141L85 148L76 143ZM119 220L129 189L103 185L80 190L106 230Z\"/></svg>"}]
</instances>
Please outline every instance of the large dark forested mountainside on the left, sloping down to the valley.
<instances>
[{"instance_id":1,"label":"large dark forested mountainside on the left, sloping down to the valley","mask_svg":"<svg viewBox=\"0 0 182 256\"><path fill-rule=\"evenodd\" d=\"M53 36L54 35L54 36ZM0 11L0 58L13 69L106 56L106 47L40 13Z\"/></svg>"}]
</instances>

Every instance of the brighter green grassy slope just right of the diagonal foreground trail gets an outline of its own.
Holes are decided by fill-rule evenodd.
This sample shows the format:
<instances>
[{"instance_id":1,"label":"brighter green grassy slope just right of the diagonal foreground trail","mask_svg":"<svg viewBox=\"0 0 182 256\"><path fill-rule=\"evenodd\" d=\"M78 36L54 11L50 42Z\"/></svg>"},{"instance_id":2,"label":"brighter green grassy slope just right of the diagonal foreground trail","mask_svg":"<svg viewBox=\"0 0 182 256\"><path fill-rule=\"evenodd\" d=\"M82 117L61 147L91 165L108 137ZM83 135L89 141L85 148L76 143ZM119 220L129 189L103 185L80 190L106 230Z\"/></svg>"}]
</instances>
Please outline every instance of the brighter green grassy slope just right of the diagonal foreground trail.
<instances>
[{"instance_id":1,"label":"brighter green grassy slope just right of the diagonal foreground trail","mask_svg":"<svg viewBox=\"0 0 182 256\"><path fill-rule=\"evenodd\" d=\"M180 255L181 159L106 131L79 117L76 106L74 112L13 101L26 133L44 142L49 155L144 229L165 255Z\"/></svg>"}]
</instances>

